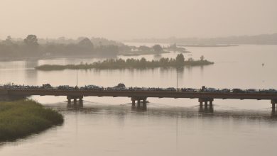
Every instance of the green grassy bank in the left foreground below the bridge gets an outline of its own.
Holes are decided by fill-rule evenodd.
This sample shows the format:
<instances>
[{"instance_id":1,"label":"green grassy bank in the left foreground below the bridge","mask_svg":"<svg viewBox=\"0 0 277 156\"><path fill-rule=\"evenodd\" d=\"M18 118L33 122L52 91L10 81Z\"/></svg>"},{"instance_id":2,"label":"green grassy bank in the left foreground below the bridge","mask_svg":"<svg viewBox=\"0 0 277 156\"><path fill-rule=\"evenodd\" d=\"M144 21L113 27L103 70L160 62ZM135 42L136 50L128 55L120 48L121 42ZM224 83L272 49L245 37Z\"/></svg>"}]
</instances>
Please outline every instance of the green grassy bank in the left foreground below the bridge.
<instances>
[{"instance_id":1,"label":"green grassy bank in the left foreground below the bridge","mask_svg":"<svg viewBox=\"0 0 277 156\"><path fill-rule=\"evenodd\" d=\"M31 100L0 102L0 141L14 140L63 123L63 116Z\"/></svg>"}]
</instances>

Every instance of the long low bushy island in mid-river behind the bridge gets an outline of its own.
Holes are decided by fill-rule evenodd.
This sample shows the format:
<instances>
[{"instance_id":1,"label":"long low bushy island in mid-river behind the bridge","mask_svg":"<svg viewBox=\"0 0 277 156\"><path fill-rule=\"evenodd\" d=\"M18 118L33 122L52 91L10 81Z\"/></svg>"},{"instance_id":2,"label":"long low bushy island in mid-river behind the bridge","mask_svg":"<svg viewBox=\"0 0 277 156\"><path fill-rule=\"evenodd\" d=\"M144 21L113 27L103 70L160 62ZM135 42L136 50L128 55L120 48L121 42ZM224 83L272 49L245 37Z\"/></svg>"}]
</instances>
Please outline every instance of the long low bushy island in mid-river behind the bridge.
<instances>
[{"instance_id":1,"label":"long low bushy island in mid-river behind the bridge","mask_svg":"<svg viewBox=\"0 0 277 156\"><path fill-rule=\"evenodd\" d=\"M184 67L184 66L203 66L212 65L214 62L204 60L204 56L200 57L200 60L193 60L189 58L185 60L183 54L178 54L175 59L164 58L160 60L148 61L142 57L139 59L110 59L102 62L94 62L92 64L80 63L80 65L40 65L35 67L38 70L50 71L50 70L63 70L63 69L147 69L155 67Z\"/></svg>"}]
</instances>

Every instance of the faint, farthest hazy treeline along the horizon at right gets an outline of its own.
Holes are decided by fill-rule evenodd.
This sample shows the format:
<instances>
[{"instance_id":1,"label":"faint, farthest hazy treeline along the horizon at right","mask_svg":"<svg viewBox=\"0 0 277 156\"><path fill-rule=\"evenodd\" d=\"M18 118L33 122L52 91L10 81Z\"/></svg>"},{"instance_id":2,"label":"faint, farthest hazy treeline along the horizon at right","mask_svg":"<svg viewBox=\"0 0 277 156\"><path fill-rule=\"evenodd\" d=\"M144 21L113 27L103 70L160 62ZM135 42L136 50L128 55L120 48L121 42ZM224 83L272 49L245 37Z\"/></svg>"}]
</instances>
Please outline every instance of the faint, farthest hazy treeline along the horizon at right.
<instances>
[{"instance_id":1,"label":"faint, farthest hazy treeline along the horizon at right","mask_svg":"<svg viewBox=\"0 0 277 156\"><path fill-rule=\"evenodd\" d=\"M184 44L249 44L277 45L277 33L269 35L241 35L225 38L146 38L126 40L139 43L184 43Z\"/></svg>"}]
</instances>

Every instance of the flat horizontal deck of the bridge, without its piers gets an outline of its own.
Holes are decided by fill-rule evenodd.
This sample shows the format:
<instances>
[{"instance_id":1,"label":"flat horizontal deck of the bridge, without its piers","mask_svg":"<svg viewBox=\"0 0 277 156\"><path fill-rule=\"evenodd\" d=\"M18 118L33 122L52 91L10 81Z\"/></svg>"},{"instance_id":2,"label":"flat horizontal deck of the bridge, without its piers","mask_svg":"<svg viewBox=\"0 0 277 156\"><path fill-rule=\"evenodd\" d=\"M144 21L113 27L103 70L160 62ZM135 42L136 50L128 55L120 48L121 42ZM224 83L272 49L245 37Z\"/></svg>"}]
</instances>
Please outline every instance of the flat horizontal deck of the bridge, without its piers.
<instances>
[{"instance_id":1,"label":"flat horizontal deck of the bridge, without its piers","mask_svg":"<svg viewBox=\"0 0 277 156\"><path fill-rule=\"evenodd\" d=\"M112 97L157 97L190 99L257 99L277 100L277 94L267 93L219 93L183 91L90 91L90 90L48 90L48 89L0 89L0 95L11 96L112 96Z\"/></svg>"}]
</instances>

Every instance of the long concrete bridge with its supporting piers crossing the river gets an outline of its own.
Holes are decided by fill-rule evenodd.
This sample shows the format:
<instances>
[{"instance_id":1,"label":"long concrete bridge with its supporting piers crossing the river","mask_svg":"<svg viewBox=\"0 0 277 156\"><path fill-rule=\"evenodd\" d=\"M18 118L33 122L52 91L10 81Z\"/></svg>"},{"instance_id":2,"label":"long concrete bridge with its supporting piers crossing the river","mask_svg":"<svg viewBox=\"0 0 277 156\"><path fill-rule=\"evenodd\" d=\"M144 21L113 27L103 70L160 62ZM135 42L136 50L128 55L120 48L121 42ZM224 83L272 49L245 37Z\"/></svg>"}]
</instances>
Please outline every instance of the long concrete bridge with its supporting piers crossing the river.
<instances>
[{"instance_id":1,"label":"long concrete bridge with its supporting piers crossing the river","mask_svg":"<svg viewBox=\"0 0 277 156\"><path fill-rule=\"evenodd\" d=\"M188 98L198 99L200 108L204 105L205 108L210 106L214 99L256 99L271 101L272 111L276 111L277 93L233 93L233 92L205 92L205 91L94 91L94 90L60 90L60 89L0 89L0 96L6 97L22 97L22 96L67 96L68 102L74 102L82 99L85 96L112 96L112 97L129 97L131 98L133 106L137 103L140 106L146 106L146 99L148 97L155 98ZM136 102L137 101L137 102Z\"/></svg>"}]
</instances>

